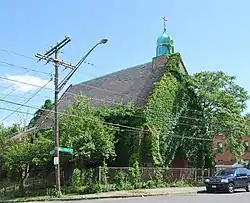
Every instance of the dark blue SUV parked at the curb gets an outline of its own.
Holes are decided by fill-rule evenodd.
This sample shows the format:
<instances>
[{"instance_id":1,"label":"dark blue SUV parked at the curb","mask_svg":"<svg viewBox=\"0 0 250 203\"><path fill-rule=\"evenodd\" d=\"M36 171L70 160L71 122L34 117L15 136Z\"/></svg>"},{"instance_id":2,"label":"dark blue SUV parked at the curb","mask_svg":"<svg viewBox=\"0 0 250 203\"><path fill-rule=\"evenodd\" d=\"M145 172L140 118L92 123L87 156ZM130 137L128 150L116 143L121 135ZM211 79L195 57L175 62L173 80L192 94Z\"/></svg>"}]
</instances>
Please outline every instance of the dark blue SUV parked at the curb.
<instances>
[{"instance_id":1,"label":"dark blue SUV parked at the curb","mask_svg":"<svg viewBox=\"0 0 250 203\"><path fill-rule=\"evenodd\" d=\"M207 192L228 191L234 193L237 188L250 191L250 171L246 168L227 168L219 170L205 180Z\"/></svg>"}]
</instances>

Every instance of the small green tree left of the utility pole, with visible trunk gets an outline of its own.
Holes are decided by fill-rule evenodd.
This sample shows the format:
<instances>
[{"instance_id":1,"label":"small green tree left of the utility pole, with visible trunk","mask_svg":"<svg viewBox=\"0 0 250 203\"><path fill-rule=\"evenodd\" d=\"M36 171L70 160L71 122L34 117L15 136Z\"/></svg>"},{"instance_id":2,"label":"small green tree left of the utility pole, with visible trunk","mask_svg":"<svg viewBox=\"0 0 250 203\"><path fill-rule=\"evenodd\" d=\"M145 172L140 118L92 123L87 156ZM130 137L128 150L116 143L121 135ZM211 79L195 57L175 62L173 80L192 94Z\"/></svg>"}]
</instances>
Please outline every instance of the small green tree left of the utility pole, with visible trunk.
<instances>
[{"instance_id":1,"label":"small green tree left of the utility pole, with visible trunk","mask_svg":"<svg viewBox=\"0 0 250 203\"><path fill-rule=\"evenodd\" d=\"M9 173L17 174L22 191L31 170L51 159L53 141L45 135L37 133L22 140L8 140L2 150L3 166Z\"/></svg>"}]
</instances>

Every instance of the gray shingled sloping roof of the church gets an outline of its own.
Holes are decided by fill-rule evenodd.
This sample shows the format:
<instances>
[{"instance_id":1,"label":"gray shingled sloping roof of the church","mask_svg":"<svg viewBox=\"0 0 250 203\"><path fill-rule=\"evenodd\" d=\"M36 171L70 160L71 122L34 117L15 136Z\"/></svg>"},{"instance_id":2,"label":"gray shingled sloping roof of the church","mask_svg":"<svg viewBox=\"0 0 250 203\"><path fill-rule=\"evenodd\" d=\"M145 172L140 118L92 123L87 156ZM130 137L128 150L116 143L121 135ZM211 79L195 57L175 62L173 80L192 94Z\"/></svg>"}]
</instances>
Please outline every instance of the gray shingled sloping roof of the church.
<instances>
[{"instance_id":1,"label":"gray shingled sloping roof of the church","mask_svg":"<svg viewBox=\"0 0 250 203\"><path fill-rule=\"evenodd\" d=\"M153 58L152 62L114 72L80 84L70 85L59 100L59 112L65 111L73 104L77 95L86 95L93 106L117 105L134 102L143 106L147 97L153 91L154 83L159 81L166 71L167 57ZM181 68L186 72L181 61ZM53 123L53 113L42 116L41 128L48 128Z\"/></svg>"}]
</instances>

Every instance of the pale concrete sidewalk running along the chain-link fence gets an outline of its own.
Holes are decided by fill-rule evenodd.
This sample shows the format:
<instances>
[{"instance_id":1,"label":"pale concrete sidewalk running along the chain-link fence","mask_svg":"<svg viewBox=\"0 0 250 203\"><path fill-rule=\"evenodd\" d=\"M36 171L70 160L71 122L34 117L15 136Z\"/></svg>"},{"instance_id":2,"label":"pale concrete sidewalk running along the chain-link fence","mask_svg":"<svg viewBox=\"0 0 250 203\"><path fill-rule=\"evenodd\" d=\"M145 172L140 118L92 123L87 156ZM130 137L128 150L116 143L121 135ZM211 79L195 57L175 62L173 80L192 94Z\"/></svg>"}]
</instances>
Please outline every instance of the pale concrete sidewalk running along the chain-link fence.
<instances>
[{"instance_id":1,"label":"pale concrete sidewalk running along the chain-link fence","mask_svg":"<svg viewBox=\"0 0 250 203\"><path fill-rule=\"evenodd\" d=\"M138 189L128 191L112 191L88 195L63 196L61 198L36 197L26 199L10 200L8 202L30 202L30 201L70 201L70 200L87 200L87 199L104 199L104 198L128 198L128 197L146 197L160 196L171 194L188 194L204 191L204 187L172 187L172 188L157 188L157 189Z\"/></svg>"}]
</instances>

